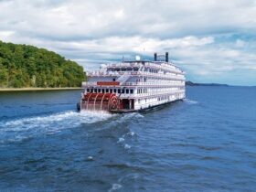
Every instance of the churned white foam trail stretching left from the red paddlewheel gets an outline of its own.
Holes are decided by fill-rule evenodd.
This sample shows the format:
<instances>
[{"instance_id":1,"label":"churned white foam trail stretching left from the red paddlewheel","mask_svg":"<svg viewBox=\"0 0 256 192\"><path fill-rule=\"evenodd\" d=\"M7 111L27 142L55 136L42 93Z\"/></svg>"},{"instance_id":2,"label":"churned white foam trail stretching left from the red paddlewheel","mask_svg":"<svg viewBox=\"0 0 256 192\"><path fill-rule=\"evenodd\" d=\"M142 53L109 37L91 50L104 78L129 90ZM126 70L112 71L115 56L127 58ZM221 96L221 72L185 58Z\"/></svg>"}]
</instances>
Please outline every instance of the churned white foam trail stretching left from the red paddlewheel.
<instances>
[{"instance_id":1,"label":"churned white foam trail stretching left from the red paddlewheel","mask_svg":"<svg viewBox=\"0 0 256 192\"><path fill-rule=\"evenodd\" d=\"M0 143L20 141L39 133L57 133L80 124L97 123L111 118L108 112L59 112L55 114L0 122Z\"/></svg>"}]
</instances>

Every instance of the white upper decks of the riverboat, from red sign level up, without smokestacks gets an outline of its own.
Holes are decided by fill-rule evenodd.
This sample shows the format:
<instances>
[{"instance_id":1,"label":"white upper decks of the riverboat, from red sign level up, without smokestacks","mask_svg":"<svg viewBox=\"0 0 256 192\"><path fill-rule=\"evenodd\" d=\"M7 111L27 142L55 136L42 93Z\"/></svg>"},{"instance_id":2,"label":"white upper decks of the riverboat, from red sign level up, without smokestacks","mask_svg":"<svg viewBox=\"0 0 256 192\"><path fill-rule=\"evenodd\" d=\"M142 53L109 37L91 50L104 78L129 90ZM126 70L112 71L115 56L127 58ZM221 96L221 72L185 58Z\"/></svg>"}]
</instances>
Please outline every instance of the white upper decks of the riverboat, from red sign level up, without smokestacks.
<instances>
[{"instance_id":1,"label":"white upper decks of the riverboat, from red sign level up, without smokestacks","mask_svg":"<svg viewBox=\"0 0 256 192\"><path fill-rule=\"evenodd\" d=\"M184 86L185 72L168 59L154 61L136 59L102 64L99 70L87 73L86 86Z\"/></svg>"}]
</instances>

